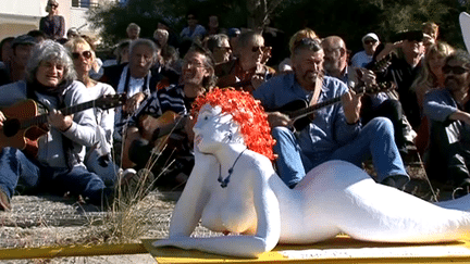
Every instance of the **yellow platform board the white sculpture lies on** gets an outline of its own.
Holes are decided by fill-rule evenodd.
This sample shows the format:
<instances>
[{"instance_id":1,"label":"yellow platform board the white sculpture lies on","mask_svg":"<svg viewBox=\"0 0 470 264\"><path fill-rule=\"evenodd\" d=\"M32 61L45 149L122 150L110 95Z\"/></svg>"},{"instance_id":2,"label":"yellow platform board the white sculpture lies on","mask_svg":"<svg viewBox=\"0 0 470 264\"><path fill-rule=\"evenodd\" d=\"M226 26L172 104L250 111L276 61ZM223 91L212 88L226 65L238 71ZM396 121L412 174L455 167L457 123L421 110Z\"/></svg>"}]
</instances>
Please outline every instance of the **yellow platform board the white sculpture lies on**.
<instances>
[{"instance_id":1,"label":"yellow platform board the white sculpture lies on","mask_svg":"<svg viewBox=\"0 0 470 264\"><path fill-rule=\"evenodd\" d=\"M448 243L378 243L337 236L324 242L305 246L277 246L258 259L240 259L176 248L154 248L156 239L143 239L159 264L253 264L253 263L470 263L470 241Z\"/></svg>"}]
</instances>

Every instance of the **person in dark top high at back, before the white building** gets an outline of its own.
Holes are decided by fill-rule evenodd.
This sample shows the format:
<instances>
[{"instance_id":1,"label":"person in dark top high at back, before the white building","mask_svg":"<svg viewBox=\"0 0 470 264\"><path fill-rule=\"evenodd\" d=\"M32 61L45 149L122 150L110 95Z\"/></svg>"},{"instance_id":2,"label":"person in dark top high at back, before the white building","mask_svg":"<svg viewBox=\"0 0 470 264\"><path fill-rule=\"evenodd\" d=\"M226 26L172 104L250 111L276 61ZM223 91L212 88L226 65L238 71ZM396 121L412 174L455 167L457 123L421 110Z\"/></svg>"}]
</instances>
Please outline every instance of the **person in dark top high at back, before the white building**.
<instances>
[{"instance_id":1,"label":"person in dark top high at back, before the white building","mask_svg":"<svg viewBox=\"0 0 470 264\"><path fill-rule=\"evenodd\" d=\"M46 12L49 14L39 22L39 30L44 32L52 40L61 39L65 34L65 20L63 16L58 15L58 11L59 2L49 0L46 5Z\"/></svg>"}]
</instances>

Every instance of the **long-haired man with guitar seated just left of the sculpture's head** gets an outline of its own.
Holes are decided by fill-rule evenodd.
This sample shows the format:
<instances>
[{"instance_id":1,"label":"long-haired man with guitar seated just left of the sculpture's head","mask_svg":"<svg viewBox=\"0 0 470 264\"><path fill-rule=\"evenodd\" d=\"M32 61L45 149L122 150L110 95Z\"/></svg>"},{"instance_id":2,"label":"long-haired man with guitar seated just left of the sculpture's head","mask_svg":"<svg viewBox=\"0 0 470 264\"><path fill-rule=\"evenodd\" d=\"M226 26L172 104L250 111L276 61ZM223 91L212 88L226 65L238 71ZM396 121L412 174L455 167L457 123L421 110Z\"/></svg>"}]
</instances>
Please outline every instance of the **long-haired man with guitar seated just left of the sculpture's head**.
<instances>
[{"instance_id":1,"label":"long-haired man with guitar seated just left of the sculpture's head","mask_svg":"<svg viewBox=\"0 0 470 264\"><path fill-rule=\"evenodd\" d=\"M186 122L185 128L181 127L184 120L170 117L165 121L168 113L175 113L180 116L186 115L196 97L205 93L214 85L214 62L210 52L198 46L193 46L186 53L183 63L183 74L181 85L171 85L152 93L150 98L143 102L141 108L132 116L129 127L126 131L126 140L123 151L123 167L134 167L136 169L152 164L150 159L158 159L152 165L154 175L163 177L157 184L181 184L189 175L193 164L193 131L190 122ZM175 129L174 129L175 128ZM173 130L174 129L174 130ZM171 133L170 141L157 140ZM168 143L166 147L163 144ZM154 155L154 148L158 155ZM152 155L153 153L153 155ZM175 161L170 168L165 168L165 163ZM183 173L183 175L181 175ZM177 177L180 176L180 177ZM175 183L176 180L176 183Z\"/></svg>"}]
</instances>

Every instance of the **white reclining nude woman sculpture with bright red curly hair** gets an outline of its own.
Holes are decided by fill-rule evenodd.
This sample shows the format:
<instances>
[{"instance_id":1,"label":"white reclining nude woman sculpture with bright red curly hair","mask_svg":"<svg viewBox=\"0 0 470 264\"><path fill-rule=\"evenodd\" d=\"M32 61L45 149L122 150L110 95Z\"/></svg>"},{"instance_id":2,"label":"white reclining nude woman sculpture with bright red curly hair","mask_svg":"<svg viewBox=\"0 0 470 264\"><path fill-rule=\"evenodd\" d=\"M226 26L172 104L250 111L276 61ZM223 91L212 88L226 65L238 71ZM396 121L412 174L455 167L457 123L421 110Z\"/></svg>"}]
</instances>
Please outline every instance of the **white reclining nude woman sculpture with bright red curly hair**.
<instances>
[{"instance_id":1,"label":"white reclining nude woman sculpture with bright red curly hair","mask_svg":"<svg viewBox=\"0 0 470 264\"><path fill-rule=\"evenodd\" d=\"M251 96L214 89L196 100L196 165L154 247L256 257L277 243L313 243L345 232L381 242L442 242L470 230L470 214L376 184L359 167L326 162L294 189L272 166L267 115ZM453 204L449 204L452 206ZM196 225L231 236L191 237Z\"/></svg>"}]
</instances>

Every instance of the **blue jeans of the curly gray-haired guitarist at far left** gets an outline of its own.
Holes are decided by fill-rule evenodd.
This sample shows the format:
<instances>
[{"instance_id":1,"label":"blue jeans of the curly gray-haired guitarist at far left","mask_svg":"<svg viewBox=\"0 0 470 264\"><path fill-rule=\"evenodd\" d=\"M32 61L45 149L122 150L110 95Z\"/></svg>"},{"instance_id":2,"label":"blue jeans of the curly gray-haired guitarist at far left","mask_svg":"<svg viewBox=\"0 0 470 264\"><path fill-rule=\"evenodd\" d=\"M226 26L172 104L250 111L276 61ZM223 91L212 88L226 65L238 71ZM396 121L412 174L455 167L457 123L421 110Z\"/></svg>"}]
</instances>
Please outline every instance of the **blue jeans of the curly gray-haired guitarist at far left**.
<instances>
[{"instance_id":1,"label":"blue jeans of the curly gray-haired guitarist at far left","mask_svg":"<svg viewBox=\"0 0 470 264\"><path fill-rule=\"evenodd\" d=\"M85 166L75 166L71 171L53 168L28 159L17 149L4 148L0 152L0 188L11 198L18 185L25 190L45 188L60 194L66 191L83 194L95 204L107 201L113 191Z\"/></svg>"}]
</instances>

